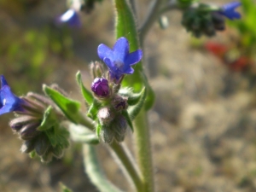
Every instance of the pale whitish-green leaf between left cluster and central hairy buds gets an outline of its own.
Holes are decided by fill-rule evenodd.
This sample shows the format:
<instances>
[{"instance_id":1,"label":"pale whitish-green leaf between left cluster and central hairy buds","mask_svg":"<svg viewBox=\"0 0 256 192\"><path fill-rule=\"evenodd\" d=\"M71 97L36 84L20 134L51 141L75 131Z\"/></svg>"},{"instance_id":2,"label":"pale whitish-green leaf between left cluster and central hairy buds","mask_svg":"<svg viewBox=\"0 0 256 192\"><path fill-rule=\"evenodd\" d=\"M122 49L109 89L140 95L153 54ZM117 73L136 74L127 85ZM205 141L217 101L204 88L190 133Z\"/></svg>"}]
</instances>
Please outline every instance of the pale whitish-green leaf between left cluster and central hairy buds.
<instances>
[{"instance_id":1,"label":"pale whitish-green leaf between left cluster and central hairy buds","mask_svg":"<svg viewBox=\"0 0 256 192\"><path fill-rule=\"evenodd\" d=\"M88 144L98 144L99 139L96 133L90 131L88 128L82 125L69 125L70 136L75 142L88 143Z\"/></svg>"}]
</instances>

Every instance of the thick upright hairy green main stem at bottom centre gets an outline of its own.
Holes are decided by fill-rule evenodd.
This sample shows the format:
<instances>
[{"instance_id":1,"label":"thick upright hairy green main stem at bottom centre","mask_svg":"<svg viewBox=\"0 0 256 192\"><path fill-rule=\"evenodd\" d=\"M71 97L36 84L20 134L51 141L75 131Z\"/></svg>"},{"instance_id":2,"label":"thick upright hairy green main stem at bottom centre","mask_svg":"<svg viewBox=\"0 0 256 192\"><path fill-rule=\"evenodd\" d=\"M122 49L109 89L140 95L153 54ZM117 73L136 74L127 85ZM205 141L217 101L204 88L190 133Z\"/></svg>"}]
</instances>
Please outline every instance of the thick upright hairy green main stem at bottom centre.
<instances>
[{"instance_id":1,"label":"thick upright hairy green main stem at bottom centre","mask_svg":"<svg viewBox=\"0 0 256 192\"><path fill-rule=\"evenodd\" d=\"M135 142L138 165L143 174L144 192L154 192L153 160L147 118L147 113L142 110L135 119Z\"/></svg>"}]
</instances>

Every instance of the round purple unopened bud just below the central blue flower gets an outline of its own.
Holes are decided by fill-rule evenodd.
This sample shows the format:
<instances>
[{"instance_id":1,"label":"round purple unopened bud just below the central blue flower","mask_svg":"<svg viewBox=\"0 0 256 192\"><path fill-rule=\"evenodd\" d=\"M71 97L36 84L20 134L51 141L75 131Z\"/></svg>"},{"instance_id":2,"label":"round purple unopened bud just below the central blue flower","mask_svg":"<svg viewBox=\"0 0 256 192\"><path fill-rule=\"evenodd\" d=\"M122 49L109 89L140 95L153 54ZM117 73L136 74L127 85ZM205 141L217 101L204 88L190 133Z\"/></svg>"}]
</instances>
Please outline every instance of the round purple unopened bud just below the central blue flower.
<instances>
[{"instance_id":1,"label":"round purple unopened bud just below the central blue flower","mask_svg":"<svg viewBox=\"0 0 256 192\"><path fill-rule=\"evenodd\" d=\"M109 94L108 80L104 78L94 79L90 88L96 96L106 97Z\"/></svg>"}]
</instances>

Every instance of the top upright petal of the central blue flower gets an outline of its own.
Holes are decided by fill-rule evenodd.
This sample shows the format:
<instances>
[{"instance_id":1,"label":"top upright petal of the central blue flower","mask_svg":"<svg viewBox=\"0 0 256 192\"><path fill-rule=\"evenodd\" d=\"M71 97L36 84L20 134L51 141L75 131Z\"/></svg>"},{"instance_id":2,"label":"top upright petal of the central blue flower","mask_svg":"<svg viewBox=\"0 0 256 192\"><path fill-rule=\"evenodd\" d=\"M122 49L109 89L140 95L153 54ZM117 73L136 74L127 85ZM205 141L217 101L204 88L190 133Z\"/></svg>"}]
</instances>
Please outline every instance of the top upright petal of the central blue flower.
<instances>
[{"instance_id":1,"label":"top upright petal of the central blue flower","mask_svg":"<svg viewBox=\"0 0 256 192\"><path fill-rule=\"evenodd\" d=\"M125 62L125 57L129 54L129 42L126 38L117 39L113 45L113 54L114 60Z\"/></svg>"}]
</instances>

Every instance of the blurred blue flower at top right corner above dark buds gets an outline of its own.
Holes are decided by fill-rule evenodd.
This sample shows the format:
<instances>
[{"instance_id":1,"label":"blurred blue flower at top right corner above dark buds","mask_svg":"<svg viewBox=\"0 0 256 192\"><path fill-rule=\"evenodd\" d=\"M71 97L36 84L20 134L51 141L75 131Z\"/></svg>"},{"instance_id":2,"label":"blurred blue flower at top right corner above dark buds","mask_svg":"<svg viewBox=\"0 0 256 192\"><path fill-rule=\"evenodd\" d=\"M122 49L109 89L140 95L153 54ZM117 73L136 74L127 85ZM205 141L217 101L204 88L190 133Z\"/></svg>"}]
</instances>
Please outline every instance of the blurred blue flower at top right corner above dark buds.
<instances>
[{"instance_id":1,"label":"blurred blue flower at top right corner above dark buds","mask_svg":"<svg viewBox=\"0 0 256 192\"><path fill-rule=\"evenodd\" d=\"M230 20L240 19L241 18L240 13L236 12L236 8L239 7L240 5L241 5L240 2L231 2L231 3L224 4L224 6L222 6L222 10L219 13L226 16Z\"/></svg>"}]
</instances>

